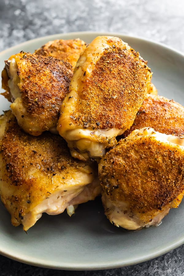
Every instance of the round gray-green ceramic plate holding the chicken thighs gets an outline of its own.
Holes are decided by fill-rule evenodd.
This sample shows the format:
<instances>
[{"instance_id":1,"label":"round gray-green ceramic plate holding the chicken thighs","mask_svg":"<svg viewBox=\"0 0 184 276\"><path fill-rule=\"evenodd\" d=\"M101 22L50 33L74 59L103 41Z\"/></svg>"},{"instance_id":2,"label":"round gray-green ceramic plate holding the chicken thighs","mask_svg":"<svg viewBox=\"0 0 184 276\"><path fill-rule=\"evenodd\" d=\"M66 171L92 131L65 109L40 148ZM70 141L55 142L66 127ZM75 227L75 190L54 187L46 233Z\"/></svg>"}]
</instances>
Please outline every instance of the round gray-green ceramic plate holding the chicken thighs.
<instances>
[{"instance_id":1,"label":"round gray-green ceramic plate holding the chicken thighs","mask_svg":"<svg viewBox=\"0 0 184 276\"><path fill-rule=\"evenodd\" d=\"M12 54L33 52L54 39L81 38L89 43L98 35L118 36L148 60L152 82L159 95L173 98L184 105L184 56L162 44L120 33L68 33L41 37L19 44L0 53L0 69ZM0 109L9 109L0 96ZM64 270L97 270L140 263L184 243L184 202L172 209L159 227L126 231L106 219L100 198L79 205L71 218L64 212L57 216L43 214L28 230L14 227L10 215L0 205L0 253L23 263Z\"/></svg>"}]
</instances>

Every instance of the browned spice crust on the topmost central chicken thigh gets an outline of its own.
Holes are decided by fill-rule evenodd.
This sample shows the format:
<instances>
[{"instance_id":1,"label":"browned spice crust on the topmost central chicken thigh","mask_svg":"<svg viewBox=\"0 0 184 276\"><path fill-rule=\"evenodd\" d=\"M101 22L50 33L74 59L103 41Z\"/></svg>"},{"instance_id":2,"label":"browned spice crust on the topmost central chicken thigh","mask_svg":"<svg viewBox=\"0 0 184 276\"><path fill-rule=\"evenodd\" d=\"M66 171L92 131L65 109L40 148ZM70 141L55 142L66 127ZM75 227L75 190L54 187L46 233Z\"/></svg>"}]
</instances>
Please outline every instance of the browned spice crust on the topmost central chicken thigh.
<instances>
[{"instance_id":1,"label":"browned spice crust on the topmost central chicken thigh","mask_svg":"<svg viewBox=\"0 0 184 276\"><path fill-rule=\"evenodd\" d=\"M126 129L150 86L147 62L126 45L113 46L105 50L79 91L73 116L75 123L84 127Z\"/></svg>"}]
</instances>

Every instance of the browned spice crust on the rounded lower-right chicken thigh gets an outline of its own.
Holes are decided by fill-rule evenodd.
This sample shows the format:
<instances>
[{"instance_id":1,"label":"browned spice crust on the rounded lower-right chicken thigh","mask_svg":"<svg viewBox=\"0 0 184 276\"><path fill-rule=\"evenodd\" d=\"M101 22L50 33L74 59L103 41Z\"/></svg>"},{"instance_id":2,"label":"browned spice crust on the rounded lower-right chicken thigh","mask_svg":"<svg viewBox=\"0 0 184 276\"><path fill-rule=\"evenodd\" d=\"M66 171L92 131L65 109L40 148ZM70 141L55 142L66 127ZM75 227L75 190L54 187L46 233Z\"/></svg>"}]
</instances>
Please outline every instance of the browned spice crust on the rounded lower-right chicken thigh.
<instances>
[{"instance_id":1,"label":"browned spice crust on the rounded lower-right chicken thigh","mask_svg":"<svg viewBox=\"0 0 184 276\"><path fill-rule=\"evenodd\" d=\"M115 205L127 202L134 214L154 215L183 192L183 158L174 146L151 138L125 138L105 155L99 178Z\"/></svg>"}]
</instances>

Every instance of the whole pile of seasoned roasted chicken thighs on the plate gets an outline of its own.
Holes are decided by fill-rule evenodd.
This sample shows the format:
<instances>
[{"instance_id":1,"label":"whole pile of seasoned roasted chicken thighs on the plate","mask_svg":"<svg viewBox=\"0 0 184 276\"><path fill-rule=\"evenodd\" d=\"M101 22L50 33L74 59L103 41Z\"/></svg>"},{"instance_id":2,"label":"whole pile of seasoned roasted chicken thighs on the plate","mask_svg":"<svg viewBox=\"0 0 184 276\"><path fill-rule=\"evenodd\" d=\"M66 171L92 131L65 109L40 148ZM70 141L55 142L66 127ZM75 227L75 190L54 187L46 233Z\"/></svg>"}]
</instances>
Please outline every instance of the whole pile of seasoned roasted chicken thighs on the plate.
<instances>
[{"instance_id":1,"label":"whole pile of seasoned roasted chicken thighs on the plate","mask_svg":"<svg viewBox=\"0 0 184 276\"><path fill-rule=\"evenodd\" d=\"M184 107L120 38L54 40L5 60L0 195L27 231L101 195L111 223L159 225L184 194ZM118 136L118 139L117 139ZM77 210L76 210L77 212Z\"/></svg>"}]
</instances>

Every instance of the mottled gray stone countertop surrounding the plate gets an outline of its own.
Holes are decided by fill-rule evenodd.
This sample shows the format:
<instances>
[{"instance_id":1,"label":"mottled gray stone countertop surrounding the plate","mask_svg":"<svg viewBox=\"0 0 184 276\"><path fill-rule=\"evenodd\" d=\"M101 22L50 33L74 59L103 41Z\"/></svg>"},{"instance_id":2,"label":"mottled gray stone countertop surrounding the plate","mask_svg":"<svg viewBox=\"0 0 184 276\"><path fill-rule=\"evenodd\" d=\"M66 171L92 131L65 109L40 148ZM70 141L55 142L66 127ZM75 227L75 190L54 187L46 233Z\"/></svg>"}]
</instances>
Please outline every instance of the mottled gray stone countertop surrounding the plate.
<instances>
[{"instance_id":1,"label":"mottled gray stone countertop surrounding the plate","mask_svg":"<svg viewBox=\"0 0 184 276\"><path fill-rule=\"evenodd\" d=\"M141 36L184 52L183 0L0 0L0 51L40 36L108 31ZM98 271L62 271L0 256L1 276L184 275L184 246L144 263Z\"/></svg>"}]
</instances>

